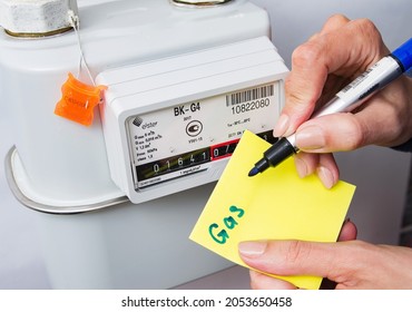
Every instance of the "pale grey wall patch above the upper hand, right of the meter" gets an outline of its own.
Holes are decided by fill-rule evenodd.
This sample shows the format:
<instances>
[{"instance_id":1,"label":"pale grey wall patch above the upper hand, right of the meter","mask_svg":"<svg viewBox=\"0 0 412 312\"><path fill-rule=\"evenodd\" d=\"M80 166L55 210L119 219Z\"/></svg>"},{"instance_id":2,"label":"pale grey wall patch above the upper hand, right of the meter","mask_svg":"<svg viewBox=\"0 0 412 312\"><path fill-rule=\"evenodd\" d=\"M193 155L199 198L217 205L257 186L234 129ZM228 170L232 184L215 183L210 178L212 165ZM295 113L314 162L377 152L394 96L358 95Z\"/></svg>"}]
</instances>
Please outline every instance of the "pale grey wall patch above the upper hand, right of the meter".
<instances>
[{"instance_id":1,"label":"pale grey wall patch above the upper hand, right of the meter","mask_svg":"<svg viewBox=\"0 0 412 312\"><path fill-rule=\"evenodd\" d=\"M272 37L287 64L291 52L317 32L334 13L350 19L371 19L381 30L389 48L411 38L412 13L409 0L252 0L266 8L272 18Z\"/></svg>"}]
</instances>

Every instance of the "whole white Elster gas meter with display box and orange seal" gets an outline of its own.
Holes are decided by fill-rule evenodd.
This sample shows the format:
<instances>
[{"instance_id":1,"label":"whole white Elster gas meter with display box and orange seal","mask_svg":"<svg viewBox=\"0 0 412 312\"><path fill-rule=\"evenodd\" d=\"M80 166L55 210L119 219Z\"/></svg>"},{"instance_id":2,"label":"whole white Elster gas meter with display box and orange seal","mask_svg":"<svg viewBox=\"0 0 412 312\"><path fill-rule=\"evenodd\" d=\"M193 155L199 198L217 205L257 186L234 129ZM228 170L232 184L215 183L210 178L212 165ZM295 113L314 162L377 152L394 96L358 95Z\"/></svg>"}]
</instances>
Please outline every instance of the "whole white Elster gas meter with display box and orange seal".
<instances>
[{"instance_id":1,"label":"whole white Elster gas meter with display box and orange seal","mask_svg":"<svg viewBox=\"0 0 412 312\"><path fill-rule=\"evenodd\" d=\"M6 176L47 213L36 216L51 285L169 289L232 266L187 236L243 131L273 139L287 68L267 12L247 0L0 0L0 25ZM66 97L94 85L92 104Z\"/></svg>"}]
</instances>

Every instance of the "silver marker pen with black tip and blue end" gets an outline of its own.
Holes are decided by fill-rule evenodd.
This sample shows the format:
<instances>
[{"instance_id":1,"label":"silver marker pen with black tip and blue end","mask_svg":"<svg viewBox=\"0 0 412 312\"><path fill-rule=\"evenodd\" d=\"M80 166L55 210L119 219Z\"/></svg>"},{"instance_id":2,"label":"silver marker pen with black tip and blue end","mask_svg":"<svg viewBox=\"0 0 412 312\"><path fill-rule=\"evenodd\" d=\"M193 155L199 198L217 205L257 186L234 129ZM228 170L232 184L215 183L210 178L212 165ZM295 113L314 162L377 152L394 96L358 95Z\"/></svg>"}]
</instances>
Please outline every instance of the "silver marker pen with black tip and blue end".
<instances>
[{"instance_id":1,"label":"silver marker pen with black tip and blue end","mask_svg":"<svg viewBox=\"0 0 412 312\"><path fill-rule=\"evenodd\" d=\"M344 87L311 118L352 111L410 69L412 69L412 38ZM263 158L255 164L248 175L263 173L271 165L276 166L297 152L295 134L283 137L263 154Z\"/></svg>"}]
</instances>

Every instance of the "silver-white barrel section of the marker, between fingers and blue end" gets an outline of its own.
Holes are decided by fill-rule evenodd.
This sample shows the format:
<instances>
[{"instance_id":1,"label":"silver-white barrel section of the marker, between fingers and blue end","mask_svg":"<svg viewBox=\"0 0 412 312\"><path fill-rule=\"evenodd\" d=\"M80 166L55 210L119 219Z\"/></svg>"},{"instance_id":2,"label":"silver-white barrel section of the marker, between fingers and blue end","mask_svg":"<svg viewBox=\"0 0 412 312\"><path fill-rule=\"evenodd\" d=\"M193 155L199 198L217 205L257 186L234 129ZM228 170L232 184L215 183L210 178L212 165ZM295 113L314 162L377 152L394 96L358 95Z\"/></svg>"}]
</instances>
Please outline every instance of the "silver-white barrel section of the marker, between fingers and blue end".
<instances>
[{"instance_id":1,"label":"silver-white barrel section of the marker, between fingers and blue end","mask_svg":"<svg viewBox=\"0 0 412 312\"><path fill-rule=\"evenodd\" d=\"M377 90L402 75L402 68L391 56L384 57L355 80L344 87L312 118L335 113L349 113L363 104Z\"/></svg>"}]
</instances>

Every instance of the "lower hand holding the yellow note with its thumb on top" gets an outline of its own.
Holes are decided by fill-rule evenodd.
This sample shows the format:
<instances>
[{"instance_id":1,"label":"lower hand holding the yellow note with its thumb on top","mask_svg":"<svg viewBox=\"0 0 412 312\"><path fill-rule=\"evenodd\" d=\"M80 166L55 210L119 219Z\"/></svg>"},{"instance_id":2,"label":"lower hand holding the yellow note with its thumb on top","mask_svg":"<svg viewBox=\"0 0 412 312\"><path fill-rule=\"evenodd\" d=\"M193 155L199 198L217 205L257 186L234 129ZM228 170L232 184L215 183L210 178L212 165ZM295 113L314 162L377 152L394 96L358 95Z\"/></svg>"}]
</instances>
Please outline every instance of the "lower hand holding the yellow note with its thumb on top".
<instances>
[{"instance_id":1,"label":"lower hand holding the yellow note with its thumb on top","mask_svg":"<svg viewBox=\"0 0 412 312\"><path fill-rule=\"evenodd\" d=\"M336 289L412 289L412 250L353 241L346 223L339 243L261 241L239 244L243 261L261 272L279 276L315 275ZM253 289L296 289L293 284L251 271Z\"/></svg>"}]
</instances>

